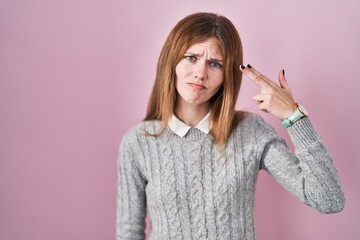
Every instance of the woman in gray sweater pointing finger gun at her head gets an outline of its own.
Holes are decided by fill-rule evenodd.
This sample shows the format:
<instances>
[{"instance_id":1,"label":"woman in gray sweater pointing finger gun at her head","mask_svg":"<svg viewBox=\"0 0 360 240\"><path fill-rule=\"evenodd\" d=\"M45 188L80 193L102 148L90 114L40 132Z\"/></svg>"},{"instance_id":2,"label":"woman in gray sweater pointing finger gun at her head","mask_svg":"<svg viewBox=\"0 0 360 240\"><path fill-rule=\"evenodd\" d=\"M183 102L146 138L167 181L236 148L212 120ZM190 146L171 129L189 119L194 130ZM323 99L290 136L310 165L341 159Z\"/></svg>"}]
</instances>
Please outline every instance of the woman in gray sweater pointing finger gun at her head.
<instances>
[{"instance_id":1,"label":"woman in gray sweater pointing finger gun at her head","mask_svg":"<svg viewBox=\"0 0 360 240\"><path fill-rule=\"evenodd\" d=\"M255 239L260 169L305 204L339 212L344 196L322 140L279 73L275 84L242 62L240 37L225 17L182 19L161 51L144 121L122 139L117 239ZM260 88L261 110L287 127L295 145L257 115L236 112L241 77Z\"/></svg>"}]
</instances>

